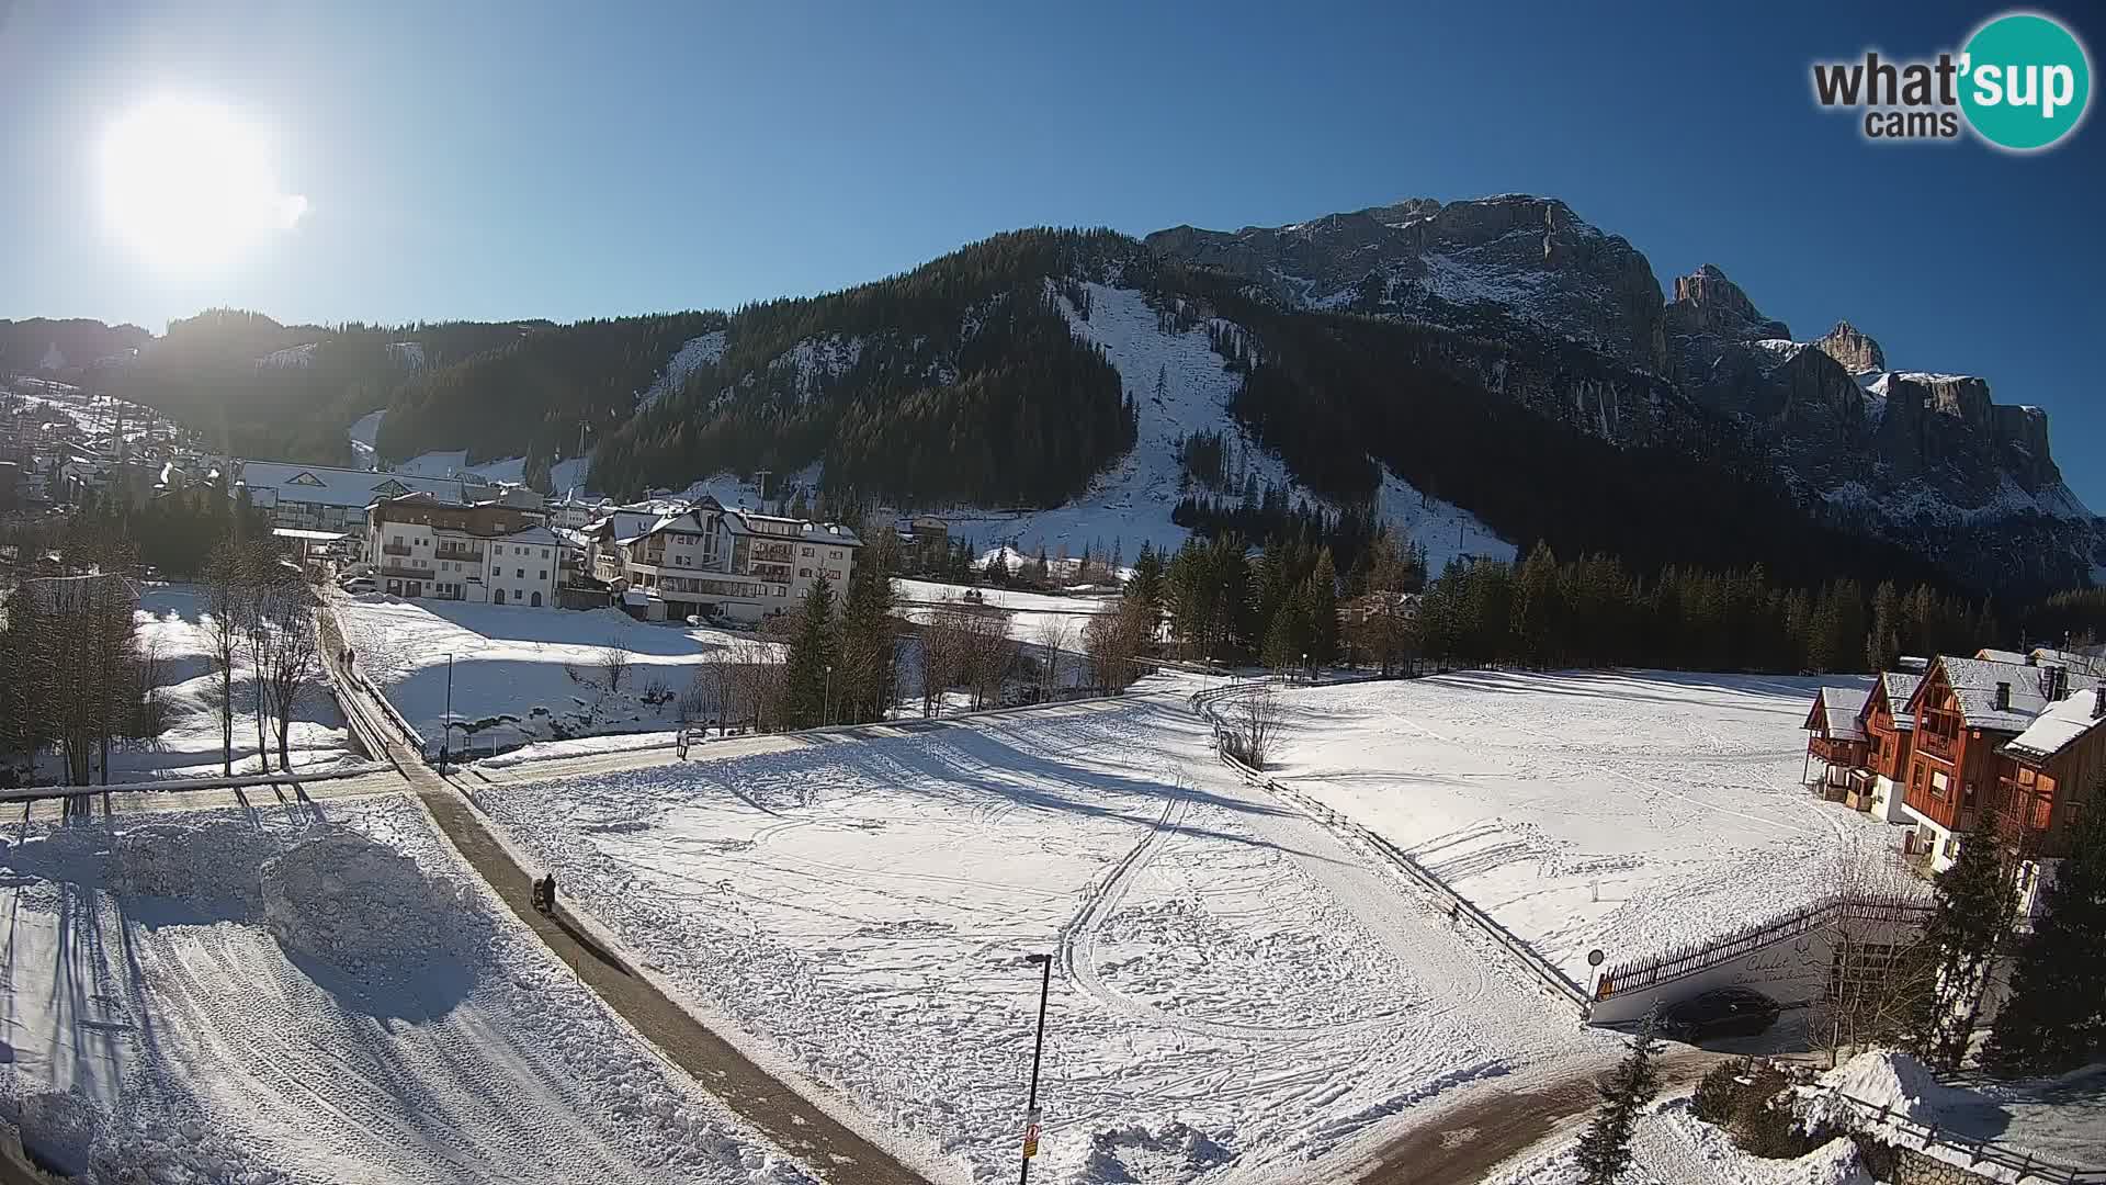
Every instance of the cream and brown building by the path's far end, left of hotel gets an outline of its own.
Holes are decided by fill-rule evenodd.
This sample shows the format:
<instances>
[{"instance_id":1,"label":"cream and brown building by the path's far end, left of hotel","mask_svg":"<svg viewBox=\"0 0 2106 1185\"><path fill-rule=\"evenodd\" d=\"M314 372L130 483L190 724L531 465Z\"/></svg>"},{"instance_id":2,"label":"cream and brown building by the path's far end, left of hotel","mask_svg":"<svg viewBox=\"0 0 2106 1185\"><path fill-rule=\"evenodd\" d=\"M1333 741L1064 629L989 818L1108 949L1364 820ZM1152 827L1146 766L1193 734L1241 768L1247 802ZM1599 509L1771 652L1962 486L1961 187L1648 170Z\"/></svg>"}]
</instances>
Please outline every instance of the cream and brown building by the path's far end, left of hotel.
<instances>
[{"instance_id":1,"label":"cream and brown building by the path's far end, left of hotel","mask_svg":"<svg viewBox=\"0 0 2106 1185\"><path fill-rule=\"evenodd\" d=\"M366 508L364 546L392 597L554 609L562 584L562 542L539 514L501 502L383 498Z\"/></svg>"}]
</instances>

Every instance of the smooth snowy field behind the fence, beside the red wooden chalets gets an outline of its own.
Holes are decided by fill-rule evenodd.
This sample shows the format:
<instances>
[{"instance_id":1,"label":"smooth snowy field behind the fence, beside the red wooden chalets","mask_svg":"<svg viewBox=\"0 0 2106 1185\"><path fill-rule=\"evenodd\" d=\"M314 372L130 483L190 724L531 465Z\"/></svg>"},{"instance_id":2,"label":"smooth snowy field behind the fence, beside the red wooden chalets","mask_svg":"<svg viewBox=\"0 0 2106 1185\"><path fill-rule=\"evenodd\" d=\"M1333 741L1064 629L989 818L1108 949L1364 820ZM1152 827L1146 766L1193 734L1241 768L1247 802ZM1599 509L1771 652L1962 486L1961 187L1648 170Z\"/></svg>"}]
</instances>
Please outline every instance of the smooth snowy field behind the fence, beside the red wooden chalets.
<instances>
[{"instance_id":1,"label":"smooth snowy field behind the fence, beside the red wooden chalets","mask_svg":"<svg viewBox=\"0 0 2106 1185\"><path fill-rule=\"evenodd\" d=\"M1830 683L1836 677L1828 677ZM1573 980L1828 894L1898 831L1799 782L1820 679L1457 673L1283 692L1270 774L1405 848Z\"/></svg>"}]
</instances>

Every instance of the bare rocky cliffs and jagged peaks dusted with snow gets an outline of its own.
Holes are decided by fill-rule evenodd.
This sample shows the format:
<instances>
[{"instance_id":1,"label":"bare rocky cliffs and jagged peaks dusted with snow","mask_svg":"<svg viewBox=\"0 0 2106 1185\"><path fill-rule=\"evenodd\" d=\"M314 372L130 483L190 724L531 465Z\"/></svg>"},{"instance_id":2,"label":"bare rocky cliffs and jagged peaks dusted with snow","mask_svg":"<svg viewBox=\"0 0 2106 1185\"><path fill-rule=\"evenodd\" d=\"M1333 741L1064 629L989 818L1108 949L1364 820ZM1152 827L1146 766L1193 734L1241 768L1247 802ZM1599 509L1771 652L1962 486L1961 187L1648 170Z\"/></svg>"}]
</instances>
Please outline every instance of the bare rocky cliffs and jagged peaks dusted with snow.
<instances>
[{"instance_id":1,"label":"bare rocky cliffs and jagged peaks dusted with snow","mask_svg":"<svg viewBox=\"0 0 2106 1185\"><path fill-rule=\"evenodd\" d=\"M2039 407L1999 405L1975 375L1891 371L1849 323L1796 342L1714 264L1662 299L1641 251L1561 200L1411 198L1148 245L1287 308L1457 329L1489 344L1459 350L1489 390L1617 445L1737 432L1813 512L1969 584L2068 586L2106 567L2106 525L2062 483Z\"/></svg>"}]
</instances>

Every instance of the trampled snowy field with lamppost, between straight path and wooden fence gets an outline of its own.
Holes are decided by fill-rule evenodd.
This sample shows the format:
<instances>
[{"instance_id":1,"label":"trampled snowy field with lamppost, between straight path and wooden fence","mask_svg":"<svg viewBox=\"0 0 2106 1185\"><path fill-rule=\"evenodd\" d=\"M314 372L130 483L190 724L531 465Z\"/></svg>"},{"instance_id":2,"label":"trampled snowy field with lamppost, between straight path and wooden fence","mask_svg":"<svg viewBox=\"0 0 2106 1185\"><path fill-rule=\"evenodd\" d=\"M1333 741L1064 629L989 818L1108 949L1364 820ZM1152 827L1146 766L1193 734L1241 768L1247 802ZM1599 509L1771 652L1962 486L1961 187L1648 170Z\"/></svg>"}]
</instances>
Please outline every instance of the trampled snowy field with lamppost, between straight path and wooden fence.
<instances>
[{"instance_id":1,"label":"trampled snowy field with lamppost, between straight path and wooden fence","mask_svg":"<svg viewBox=\"0 0 2106 1185\"><path fill-rule=\"evenodd\" d=\"M670 991L975 1179L1283 1181L1607 1037L1221 768L1190 687L476 799Z\"/></svg>"}]
</instances>

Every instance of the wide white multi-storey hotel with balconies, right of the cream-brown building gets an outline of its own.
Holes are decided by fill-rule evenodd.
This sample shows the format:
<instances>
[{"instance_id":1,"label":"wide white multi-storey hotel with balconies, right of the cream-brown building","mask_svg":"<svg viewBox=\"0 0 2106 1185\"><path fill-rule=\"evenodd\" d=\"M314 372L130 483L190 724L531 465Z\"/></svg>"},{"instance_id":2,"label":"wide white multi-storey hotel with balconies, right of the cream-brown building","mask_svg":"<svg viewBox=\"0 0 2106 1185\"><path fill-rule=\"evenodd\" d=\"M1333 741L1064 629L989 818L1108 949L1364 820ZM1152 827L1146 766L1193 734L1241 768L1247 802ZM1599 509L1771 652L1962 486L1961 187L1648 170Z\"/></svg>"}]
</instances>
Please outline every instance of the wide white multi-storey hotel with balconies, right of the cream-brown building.
<instances>
[{"instance_id":1,"label":"wide white multi-storey hotel with balconies, right of the cream-brown building","mask_svg":"<svg viewBox=\"0 0 2106 1185\"><path fill-rule=\"evenodd\" d=\"M644 597L651 618L758 622L796 605L823 576L845 590L863 540L836 523L727 508L625 506L585 527L592 574Z\"/></svg>"}]
</instances>

